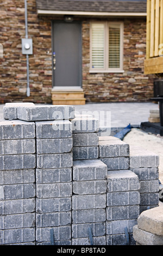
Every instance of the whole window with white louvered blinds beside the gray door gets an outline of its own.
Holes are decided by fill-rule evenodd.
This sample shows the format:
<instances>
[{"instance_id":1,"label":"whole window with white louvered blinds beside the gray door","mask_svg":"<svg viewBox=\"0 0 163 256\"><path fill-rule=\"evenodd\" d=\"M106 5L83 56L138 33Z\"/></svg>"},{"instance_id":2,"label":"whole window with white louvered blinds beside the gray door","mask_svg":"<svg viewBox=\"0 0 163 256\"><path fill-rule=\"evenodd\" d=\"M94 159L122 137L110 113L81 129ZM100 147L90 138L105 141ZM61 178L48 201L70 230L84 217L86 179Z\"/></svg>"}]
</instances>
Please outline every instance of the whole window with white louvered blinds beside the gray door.
<instances>
[{"instance_id":1,"label":"whole window with white louvered blinds beside the gray door","mask_svg":"<svg viewBox=\"0 0 163 256\"><path fill-rule=\"evenodd\" d=\"M91 22L90 72L123 72L123 23Z\"/></svg>"}]
</instances>

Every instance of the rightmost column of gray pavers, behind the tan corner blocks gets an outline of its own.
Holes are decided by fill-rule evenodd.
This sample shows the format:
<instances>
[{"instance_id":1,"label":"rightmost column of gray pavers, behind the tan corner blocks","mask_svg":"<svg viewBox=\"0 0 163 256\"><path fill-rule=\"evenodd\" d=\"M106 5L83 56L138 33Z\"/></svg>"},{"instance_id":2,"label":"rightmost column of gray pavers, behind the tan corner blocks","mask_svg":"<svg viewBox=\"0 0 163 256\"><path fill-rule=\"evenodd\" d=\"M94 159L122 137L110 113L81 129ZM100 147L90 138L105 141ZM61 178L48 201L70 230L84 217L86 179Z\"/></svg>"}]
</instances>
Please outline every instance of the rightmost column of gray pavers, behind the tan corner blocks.
<instances>
[{"instance_id":1,"label":"rightmost column of gray pavers, behind the tan corner blocks","mask_svg":"<svg viewBox=\"0 0 163 256\"><path fill-rule=\"evenodd\" d=\"M130 146L130 170L140 180L140 213L159 205L159 156Z\"/></svg>"}]
</instances>

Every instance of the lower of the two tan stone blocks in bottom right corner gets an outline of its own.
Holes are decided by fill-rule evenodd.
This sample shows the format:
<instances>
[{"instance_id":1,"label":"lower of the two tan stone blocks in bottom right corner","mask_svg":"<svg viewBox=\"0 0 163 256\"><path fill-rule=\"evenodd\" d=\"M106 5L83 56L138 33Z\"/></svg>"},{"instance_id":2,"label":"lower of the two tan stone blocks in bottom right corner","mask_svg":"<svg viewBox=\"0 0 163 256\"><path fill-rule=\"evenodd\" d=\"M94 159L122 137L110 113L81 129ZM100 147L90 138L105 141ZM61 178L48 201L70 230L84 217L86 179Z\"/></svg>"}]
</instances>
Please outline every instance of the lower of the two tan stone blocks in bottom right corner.
<instances>
[{"instance_id":1,"label":"lower of the two tan stone blocks in bottom right corner","mask_svg":"<svg viewBox=\"0 0 163 256\"><path fill-rule=\"evenodd\" d=\"M137 225L133 227L133 237L140 245L163 245L163 236L142 230Z\"/></svg>"}]
</instances>

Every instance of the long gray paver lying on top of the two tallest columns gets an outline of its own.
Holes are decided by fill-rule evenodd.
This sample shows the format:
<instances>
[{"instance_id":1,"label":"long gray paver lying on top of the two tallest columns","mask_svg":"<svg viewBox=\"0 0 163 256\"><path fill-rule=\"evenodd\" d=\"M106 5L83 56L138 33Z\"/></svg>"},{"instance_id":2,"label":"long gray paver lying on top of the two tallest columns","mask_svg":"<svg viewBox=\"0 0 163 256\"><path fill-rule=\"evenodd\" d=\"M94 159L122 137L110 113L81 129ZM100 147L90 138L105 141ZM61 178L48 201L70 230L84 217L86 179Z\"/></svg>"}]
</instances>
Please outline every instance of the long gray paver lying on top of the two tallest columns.
<instances>
[{"instance_id":1,"label":"long gray paver lying on top of the two tallest columns","mask_svg":"<svg viewBox=\"0 0 163 256\"><path fill-rule=\"evenodd\" d=\"M17 107L17 117L24 121L64 120L74 118L73 106Z\"/></svg>"}]
</instances>

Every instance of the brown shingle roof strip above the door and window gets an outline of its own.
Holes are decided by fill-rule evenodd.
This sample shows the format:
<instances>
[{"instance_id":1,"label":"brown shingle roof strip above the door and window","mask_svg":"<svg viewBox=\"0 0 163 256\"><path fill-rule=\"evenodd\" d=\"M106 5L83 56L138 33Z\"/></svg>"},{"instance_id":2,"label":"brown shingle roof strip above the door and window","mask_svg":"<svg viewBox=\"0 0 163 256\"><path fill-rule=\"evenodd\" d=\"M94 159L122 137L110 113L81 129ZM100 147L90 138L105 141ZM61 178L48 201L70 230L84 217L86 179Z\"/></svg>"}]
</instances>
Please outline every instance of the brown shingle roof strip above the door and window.
<instances>
[{"instance_id":1,"label":"brown shingle roof strip above the door and window","mask_svg":"<svg viewBox=\"0 0 163 256\"><path fill-rule=\"evenodd\" d=\"M39 10L146 13L146 1L36 0Z\"/></svg>"}]
</instances>

